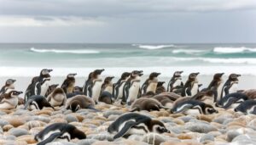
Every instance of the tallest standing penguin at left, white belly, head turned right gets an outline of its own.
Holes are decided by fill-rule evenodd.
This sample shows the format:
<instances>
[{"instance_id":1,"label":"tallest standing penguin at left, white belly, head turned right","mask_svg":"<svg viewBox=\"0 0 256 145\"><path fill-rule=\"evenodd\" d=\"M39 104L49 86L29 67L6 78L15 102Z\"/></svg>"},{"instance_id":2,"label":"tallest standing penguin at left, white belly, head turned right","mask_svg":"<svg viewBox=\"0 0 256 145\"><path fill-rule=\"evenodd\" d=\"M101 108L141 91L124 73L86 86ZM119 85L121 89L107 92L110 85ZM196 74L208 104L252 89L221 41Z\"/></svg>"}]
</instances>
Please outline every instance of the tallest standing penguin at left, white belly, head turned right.
<instances>
[{"instance_id":1,"label":"tallest standing penguin at left, white belly, head turned right","mask_svg":"<svg viewBox=\"0 0 256 145\"><path fill-rule=\"evenodd\" d=\"M31 84L26 88L25 102L33 95L42 95L45 96L48 88L49 88L49 81L50 75L49 72L52 70L44 69L41 70L39 76L35 76L32 78Z\"/></svg>"}]
</instances>

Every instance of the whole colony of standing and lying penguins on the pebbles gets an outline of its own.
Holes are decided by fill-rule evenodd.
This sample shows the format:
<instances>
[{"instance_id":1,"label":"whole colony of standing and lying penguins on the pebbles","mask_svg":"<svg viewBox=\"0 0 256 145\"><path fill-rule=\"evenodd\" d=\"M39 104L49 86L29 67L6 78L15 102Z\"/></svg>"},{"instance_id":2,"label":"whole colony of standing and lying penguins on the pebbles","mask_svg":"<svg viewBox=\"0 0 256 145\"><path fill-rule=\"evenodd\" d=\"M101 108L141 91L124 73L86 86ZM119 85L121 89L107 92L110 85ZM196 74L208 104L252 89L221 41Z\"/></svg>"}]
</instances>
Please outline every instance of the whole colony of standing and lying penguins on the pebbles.
<instances>
[{"instance_id":1,"label":"whole colony of standing and lying penguins on the pebbles","mask_svg":"<svg viewBox=\"0 0 256 145\"><path fill-rule=\"evenodd\" d=\"M120 115L108 126L113 139L149 132L170 132L160 120L138 114L142 110L166 109L170 114L214 114L218 113L218 108L223 108L256 114L256 90L238 90L238 77L241 76L238 74L230 74L225 82L222 79L224 73L215 74L207 88L200 89L199 72L191 73L183 83L183 71L176 71L166 89L165 81L158 81L159 72L152 72L142 83L143 70L124 72L117 82L113 82L113 76L102 79L104 69L94 70L81 87L75 86L77 74L71 73L58 87L58 84L49 84L51 71L41 70L38 76L32 78L24 99L19 97L23 92L15 90L15 80L7 80L0 90L0 109L15 109L23 104L23 109L29 110L60 107L72 112L91 109L102 113L95 108L97 103L117 102L125 105L131 113ZM38 145L58 140L69 142L74 138L84 139L86 135L67 123L49 125L35 135Z\"/></svg>"}]
</instances>

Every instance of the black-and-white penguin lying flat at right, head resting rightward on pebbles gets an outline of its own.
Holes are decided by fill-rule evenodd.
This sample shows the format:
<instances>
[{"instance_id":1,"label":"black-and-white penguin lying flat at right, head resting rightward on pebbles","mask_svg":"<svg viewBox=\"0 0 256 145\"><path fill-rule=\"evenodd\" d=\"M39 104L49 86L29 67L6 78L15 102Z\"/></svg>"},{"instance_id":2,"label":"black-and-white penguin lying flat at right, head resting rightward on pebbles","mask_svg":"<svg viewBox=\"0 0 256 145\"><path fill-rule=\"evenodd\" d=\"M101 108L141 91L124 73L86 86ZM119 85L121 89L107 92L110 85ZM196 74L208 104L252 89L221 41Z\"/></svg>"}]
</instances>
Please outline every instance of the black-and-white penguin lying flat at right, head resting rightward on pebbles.
<instances>
[{"instance_id":1,"label":"black-and-white penguin lying flat at right, head resting rightward on pebbles","mask_svg":"<svg viewBox=\"0 0 256 145\"><path fill-rule=\"evenodd\" d=\"M187 97L189 98L189 97ZM175 103L171 109L172 114L214 114L218 113L218 110L214 109L212 105L203 103L198 100L188 99L179 103Z\"/></svg>"}]
</instances>

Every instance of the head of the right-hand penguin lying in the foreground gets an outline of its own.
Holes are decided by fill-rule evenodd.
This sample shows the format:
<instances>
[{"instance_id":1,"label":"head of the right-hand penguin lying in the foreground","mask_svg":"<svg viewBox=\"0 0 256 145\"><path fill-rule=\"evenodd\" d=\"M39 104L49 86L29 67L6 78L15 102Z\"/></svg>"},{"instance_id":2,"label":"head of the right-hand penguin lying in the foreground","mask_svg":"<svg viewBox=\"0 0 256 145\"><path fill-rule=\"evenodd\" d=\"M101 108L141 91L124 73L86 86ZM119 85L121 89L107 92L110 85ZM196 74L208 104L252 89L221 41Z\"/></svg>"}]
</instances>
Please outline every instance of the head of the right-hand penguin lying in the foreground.
<instances>
[{"instance_id":1,"label":"head of the right-hand penguin lying in the foreground","mask_svg":"<svg viewBox=\"0 0 256 145\"><path fill-rule=\"evenodd\" d=\"M166 129L166 126L160 120L151 120L149 130L155 133L170 133L171 131Z\"/></svg>"}]
</instances>

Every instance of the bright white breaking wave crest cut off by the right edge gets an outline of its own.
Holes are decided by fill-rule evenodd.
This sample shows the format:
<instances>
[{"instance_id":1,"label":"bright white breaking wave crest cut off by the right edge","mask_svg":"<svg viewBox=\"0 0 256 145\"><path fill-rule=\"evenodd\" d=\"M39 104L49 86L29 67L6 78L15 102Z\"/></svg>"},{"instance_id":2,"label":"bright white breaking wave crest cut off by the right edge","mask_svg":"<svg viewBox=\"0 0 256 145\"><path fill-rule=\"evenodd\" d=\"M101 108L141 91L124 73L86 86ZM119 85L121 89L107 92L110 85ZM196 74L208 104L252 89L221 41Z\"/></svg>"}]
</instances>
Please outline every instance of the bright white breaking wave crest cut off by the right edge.
<instances>
[{"instance_id":1,"label":"bright white breaking wave crest cut off by the right edge","mask_svg":"<svg viewBox=\"0 0 256 145\"><path fill-rule=\"evenodd\" d=\"M214 47L214 53L247 53L247 52L255 52L256 48L250 47Z\"/></svg>"}]
</instances>

